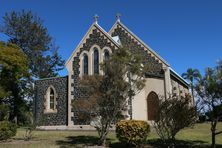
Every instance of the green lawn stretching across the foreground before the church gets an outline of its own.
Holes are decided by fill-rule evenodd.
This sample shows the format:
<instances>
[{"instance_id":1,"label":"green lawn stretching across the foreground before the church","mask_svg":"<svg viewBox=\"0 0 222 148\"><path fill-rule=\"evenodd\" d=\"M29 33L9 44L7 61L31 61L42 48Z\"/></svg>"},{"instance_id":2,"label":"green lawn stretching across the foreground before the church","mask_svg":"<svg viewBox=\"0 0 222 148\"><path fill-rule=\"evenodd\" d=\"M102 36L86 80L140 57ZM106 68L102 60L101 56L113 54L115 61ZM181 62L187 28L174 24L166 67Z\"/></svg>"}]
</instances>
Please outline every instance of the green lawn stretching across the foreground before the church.
<instances>
[{"instance_id":1,"label":"green lawn stretching across the foreground before the church","mask_svg":"<svg viewBox=\"0 0 222 148\"><path fill-rule=\"evenodd\" d=\"M218 129L222 130L222 123ZM18 129L17 135L7 142L1 142L0 147L7 148L50 148L50 147L85 147L96 145L98 139L94 131L34 131L34 138L31 141L24 141L25 130ZM110 147L123 147L111 132L108 136ZM211 141L210 124L196 124L193 128L188 128L176 136L178 143L186 144L184 147L209 147ZM218 147L222 147L222 135L216 138ZM158 147L158 136L152 129L146 147ZM180 147L180 146L179 146Z\"/></svg>"}]
</instances>

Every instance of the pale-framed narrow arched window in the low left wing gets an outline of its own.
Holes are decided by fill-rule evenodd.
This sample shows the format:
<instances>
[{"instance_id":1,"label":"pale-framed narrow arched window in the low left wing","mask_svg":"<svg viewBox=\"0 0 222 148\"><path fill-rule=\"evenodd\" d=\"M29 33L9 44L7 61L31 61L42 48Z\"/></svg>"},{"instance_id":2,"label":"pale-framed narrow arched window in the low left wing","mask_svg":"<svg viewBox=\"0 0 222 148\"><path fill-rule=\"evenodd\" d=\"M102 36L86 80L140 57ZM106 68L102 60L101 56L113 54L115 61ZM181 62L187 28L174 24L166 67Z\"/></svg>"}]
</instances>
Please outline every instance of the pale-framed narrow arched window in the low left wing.
<instances>
[{"instance_id":1,"label":"pale-framed narrow arched window in the low left wing","mask_svg":"<svg viewBox=\"0 0 222 148\"><path fill-rule=\"evenodd\" d=\"M57 112L56 109L57 94L53 86L49 86L45 94L44 113Z\"/></svg>"}]
</instances>

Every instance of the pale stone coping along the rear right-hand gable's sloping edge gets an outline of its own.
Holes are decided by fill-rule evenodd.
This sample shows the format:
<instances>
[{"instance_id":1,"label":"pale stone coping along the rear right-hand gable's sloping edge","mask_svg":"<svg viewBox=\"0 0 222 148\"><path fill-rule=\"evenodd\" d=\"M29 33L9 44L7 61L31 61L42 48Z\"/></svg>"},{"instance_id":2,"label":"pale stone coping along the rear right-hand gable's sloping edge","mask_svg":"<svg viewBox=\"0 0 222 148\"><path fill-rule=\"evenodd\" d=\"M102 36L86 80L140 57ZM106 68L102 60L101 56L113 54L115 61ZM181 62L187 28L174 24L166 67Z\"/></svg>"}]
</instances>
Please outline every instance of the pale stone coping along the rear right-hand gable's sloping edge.
<instances>
[{"instance_id":1,"label":"pale stone coping along the rear right-hand gable's sloping edge","mask_svg":"<svg viewBox=\"0 0 222 148\"><path fill-rule=\"evenodd\" d=\"M167 66L170 66L159 54L157 54L152 48L150 48L146 43L144 43L139 37L137 37L132 31L130 31L123 23L121 23L119 20L115 22L115 24L112 26L112 28L109 31L109 34L111 35L112 32L114 32L114 29L117 28L117 26L121 26L122 29L124 29L130 36L132 36L138 43L140 43L142 46L144 46L148 52L150 52L154 57L156 57L159 61L164 63Z\"/></svg>"}]
</instances>

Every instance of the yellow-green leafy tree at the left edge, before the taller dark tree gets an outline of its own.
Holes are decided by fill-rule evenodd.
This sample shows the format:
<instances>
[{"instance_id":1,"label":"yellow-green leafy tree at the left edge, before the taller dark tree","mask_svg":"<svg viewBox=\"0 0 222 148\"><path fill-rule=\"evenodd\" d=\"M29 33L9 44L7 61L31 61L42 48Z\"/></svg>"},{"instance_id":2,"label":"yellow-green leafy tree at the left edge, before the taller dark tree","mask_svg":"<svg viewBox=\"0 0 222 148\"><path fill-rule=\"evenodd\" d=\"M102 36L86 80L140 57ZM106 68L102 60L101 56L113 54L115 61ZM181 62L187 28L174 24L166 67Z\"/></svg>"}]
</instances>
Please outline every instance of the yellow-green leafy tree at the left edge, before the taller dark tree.
<instances>
[{"instance_id":1,"label":"yellow-green leafy tree at the left edge, before the taller dark tree","mask_svg":"<svg viewBox=\"0 0 222 148\"><path fill-rule=\"evenodd\" d=\"M0 105L8 105L11 119L17 119L25 106L21 82L29 77L27 57L18 46L0 42L0 65Z\"/></svg>"}]
</instances>

